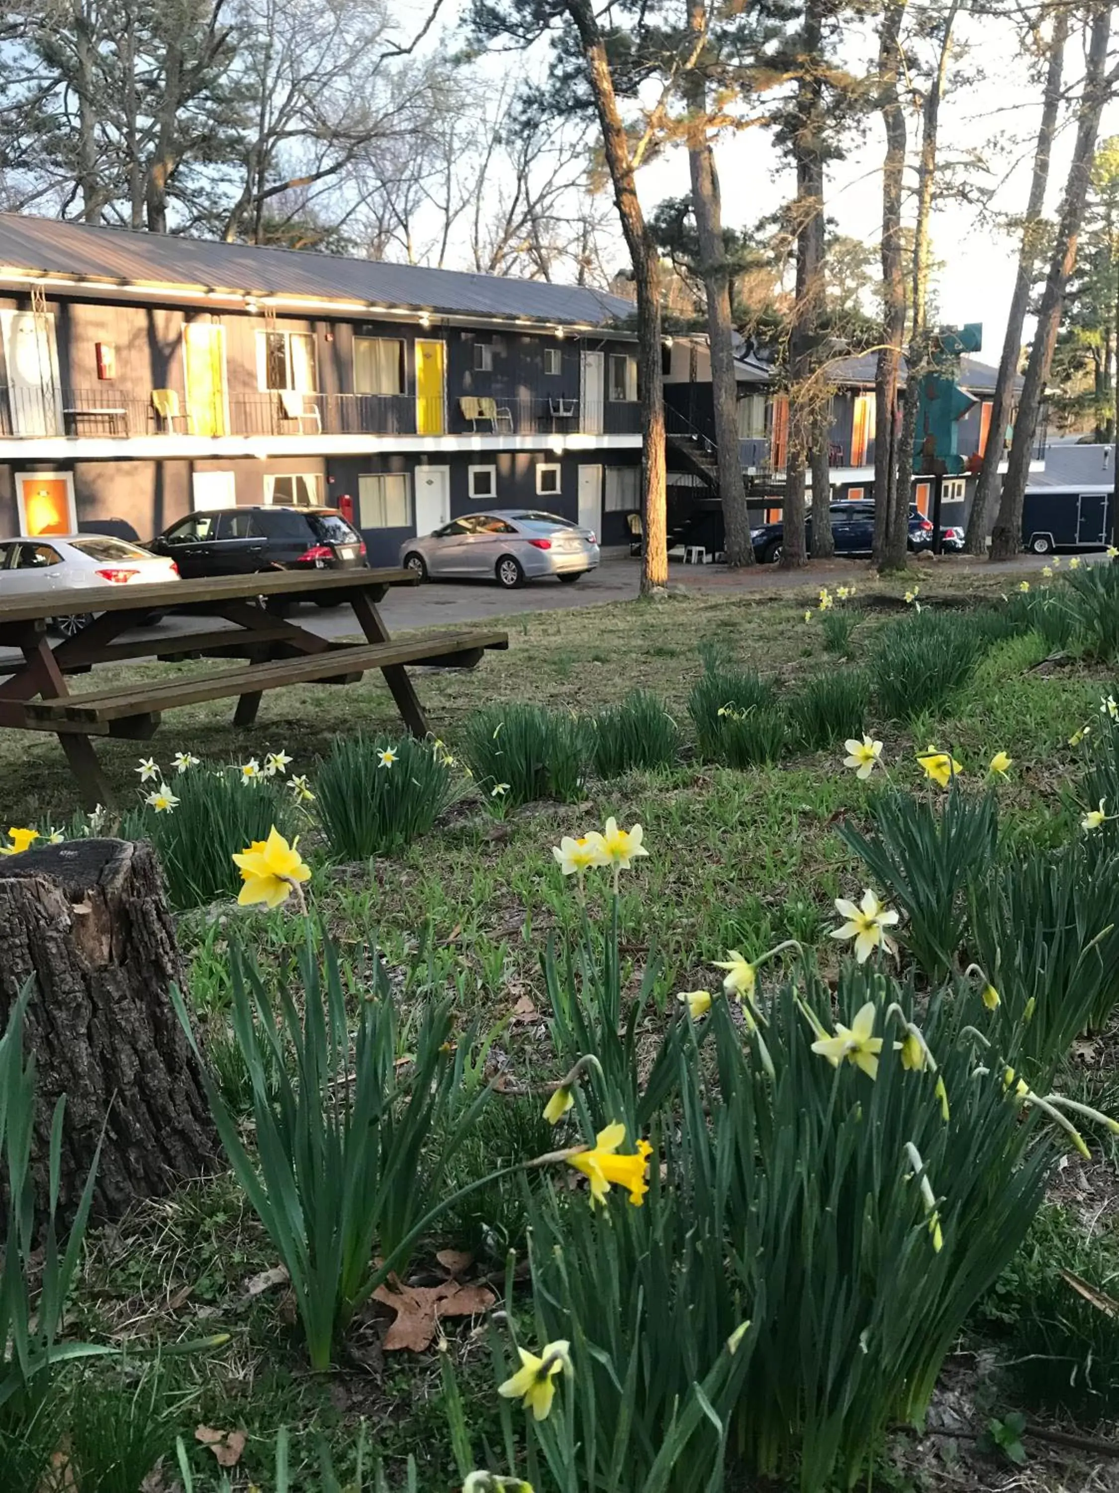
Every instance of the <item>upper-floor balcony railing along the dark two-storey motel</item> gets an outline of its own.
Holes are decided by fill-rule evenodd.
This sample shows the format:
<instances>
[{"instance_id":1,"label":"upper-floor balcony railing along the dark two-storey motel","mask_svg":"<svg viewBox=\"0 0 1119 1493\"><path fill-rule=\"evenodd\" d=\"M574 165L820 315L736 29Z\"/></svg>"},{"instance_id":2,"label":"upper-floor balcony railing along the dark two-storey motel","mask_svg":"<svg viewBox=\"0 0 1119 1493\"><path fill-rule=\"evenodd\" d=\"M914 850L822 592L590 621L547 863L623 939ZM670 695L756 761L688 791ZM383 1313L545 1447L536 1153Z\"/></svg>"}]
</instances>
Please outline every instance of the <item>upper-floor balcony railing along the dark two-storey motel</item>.
<instances>
[{"instance_id":1,"label":"upper-floor balcony railing along the dark two-storey motel","mask_svg":"<svg viewBox=\"0 0 1119 1493\"><path fill-rule=\"evenodd\" d=\"M552 393L497 394L292 394L263 391L212 400L179 397L161 415L151 399L97 388L0 385L0 436L461 436L637 434L636 400L582 402Z\"/></svg>"}]
</instances>

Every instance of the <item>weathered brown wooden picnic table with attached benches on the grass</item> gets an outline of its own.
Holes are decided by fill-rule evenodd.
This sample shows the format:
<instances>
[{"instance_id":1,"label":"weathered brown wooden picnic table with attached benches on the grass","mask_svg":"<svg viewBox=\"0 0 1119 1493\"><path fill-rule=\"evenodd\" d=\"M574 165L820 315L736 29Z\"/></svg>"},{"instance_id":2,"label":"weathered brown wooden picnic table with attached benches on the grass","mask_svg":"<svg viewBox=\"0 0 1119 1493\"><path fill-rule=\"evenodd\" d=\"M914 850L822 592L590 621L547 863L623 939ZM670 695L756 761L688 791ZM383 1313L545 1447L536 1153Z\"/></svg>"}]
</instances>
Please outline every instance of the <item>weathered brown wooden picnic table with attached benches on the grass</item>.
<instances>
[{"instance_id":1,"label":"weathered brown wooden picnic table with attached benches on the grass","mask_svg":"<svg viewBox=\"0 0 1119 1493\"><path fill-rule=\"evenodd\" d=\"M380 669L397 709L416 736L427 720L407 673L415 667L473 669L486 648L507 648L501 632L445 633L392 642L377 602L392 585L415 585L410 570L275 570L258 575L169 581L158 585L104 585L37 591L0 599L0 648L15 648L21 663L0 661L0 727L54 732L78 779L87 808L110 802L110 790L94 751L94 736L148 741L164 711L203 700L237 697L234 726L251 726L266 690L288 684L352 684ZM267 609L272 597L330 593L349 603L364 643L319 638L291 618ZM194 630L175 638L128 639L152 612L204 612ZM93 614L93 621L54 645L48 623L55 617ZM233 627L209 626L213 617ZM145 679L88 693L70 693L67 675L130 658L227 658L233 667ZM3 678L6 675L6 678Z\"/></svg>"}]
</instances>

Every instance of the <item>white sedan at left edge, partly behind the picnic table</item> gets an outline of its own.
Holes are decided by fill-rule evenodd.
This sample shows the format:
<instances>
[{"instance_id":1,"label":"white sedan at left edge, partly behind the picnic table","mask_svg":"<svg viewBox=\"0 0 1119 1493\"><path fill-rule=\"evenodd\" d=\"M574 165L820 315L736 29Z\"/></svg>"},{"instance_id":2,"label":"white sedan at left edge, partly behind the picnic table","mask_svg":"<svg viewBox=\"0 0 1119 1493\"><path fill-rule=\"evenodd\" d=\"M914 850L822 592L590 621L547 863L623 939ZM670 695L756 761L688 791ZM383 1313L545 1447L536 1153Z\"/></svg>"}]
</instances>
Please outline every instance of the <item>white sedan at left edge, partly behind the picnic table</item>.
<instances>
[{"instance_id":1,"label":"white sedan at left edge, partly behind the picnic table","mask_svg":"<svg viewBox=\"0 0 1119 1493\"><path fill-rule=\"evenodd\" d=\"M178 581L173 560L110 534L40 534L0 540L0 600L103 585ZM88 612L60 617L63 633L81 632Z\"/></svg>"}]
</instances>

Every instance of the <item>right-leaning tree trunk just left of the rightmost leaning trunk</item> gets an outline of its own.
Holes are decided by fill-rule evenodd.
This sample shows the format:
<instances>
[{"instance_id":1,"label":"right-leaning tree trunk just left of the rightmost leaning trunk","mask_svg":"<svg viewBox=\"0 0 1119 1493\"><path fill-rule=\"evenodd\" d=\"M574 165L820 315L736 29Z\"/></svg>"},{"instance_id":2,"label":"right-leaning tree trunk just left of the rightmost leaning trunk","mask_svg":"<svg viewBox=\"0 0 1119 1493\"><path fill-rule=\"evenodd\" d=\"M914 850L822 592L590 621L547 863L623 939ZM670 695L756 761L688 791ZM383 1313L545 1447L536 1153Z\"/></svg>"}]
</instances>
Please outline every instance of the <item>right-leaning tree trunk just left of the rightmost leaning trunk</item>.
<instances>
[{"instance_id":1,"label":"right-leaning tree trunk just left of the rightmost leaning trunk","mask_svg":"<svg viewBox=\"0 0 1119 1493\"><path fill-rule=\"evenodd\" d=\"M1026 202L1025 222L1022 224L1018 276L1015 279L1015 293L1010 297L1010 312L1006 336L1003 337L1003 357L998 360L998 378L995 379L995 397L991 402L991 424L988 426L983 466L979 472L976 497L971 505L971 517L968 518L967 536L964 539L964 549L970 555L986 552L986 536L998 496L998 466L1003 460L1004 431L1010 424L1010 415L1015 408L1015 378L1018 375L1018 360L1022 354L1022 325L1029 308L1029 291L1034 288L1040 239L1044 231L1041 213L1044 211L1046 187L1049 185L1049 157L1061 110L1061 78L1067 40L1068 7L1058 4L1053 10L1053 31L1049 40L1049 67L1046 70L1041 103L1041 124L1037 131L1034 172L1029 179L1029 199Z\"/></svg>"}]
</instances>

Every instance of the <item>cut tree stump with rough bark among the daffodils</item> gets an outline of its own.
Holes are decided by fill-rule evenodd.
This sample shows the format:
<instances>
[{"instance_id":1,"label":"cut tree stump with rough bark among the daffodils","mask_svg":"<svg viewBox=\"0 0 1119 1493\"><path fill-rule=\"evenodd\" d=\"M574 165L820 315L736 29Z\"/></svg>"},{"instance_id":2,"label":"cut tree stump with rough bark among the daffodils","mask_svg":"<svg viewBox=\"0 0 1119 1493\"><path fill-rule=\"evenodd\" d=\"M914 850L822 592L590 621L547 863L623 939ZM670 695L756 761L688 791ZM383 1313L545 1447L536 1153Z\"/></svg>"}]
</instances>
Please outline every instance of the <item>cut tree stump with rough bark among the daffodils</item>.
<instances>
[{"instance_id":1,"label":"cut tree stump with rough bark among the daffodils","mask_svg":"<svg viewBox=\"0 0 1119 1493\"><path fill-rule=\"evenodd\" d=\"M219 1147L169 999L184 969L151 845L70 841L0 860L0 1029L28 979L36 1196L66 1094L58 1212L72 1217L97 1142L93 1211L118 1218L212 1168Z\"/></svg>"}]
</instances>

